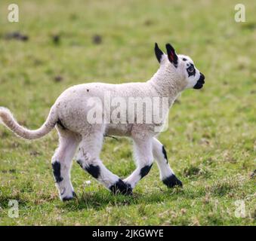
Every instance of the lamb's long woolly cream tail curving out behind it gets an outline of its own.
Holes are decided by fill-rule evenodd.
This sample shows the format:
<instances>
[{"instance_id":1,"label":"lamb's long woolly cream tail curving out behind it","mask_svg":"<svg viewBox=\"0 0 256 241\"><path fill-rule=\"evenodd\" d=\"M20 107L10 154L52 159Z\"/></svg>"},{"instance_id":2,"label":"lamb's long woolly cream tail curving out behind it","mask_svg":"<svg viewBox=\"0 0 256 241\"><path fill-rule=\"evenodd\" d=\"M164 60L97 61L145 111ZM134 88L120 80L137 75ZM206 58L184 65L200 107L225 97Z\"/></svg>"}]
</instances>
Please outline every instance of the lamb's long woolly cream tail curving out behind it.
<instances>
[{"instance_id":1,"label":"lamb's long woolly cream tail curving out behind it","mask_svg":"<svg viewBox=\"0 0 256 241\"><path fill-rule=\"evenodd\" d=\"M40 137L45 136L54 128L57 120L56 111L51 108L50 114L42 127L40 127L38 130L28 130L17 123L8 108L0 107L0 122L5 124L8 129L23 139L39 139Z\"/></svg>"}]
</instances>

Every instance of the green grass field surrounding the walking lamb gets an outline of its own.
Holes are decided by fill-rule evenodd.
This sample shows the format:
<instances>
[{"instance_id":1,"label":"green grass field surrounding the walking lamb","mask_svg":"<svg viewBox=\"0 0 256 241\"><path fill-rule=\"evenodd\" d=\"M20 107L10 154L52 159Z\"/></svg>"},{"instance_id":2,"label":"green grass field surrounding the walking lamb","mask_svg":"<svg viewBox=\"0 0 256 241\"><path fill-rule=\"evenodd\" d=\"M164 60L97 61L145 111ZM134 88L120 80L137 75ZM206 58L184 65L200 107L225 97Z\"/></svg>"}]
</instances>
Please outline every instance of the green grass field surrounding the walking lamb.
<instances>
[{"instance_id":1,"label":"green grass field surrounding the walking lamb","mask_svg":"<svg viewBox=\"0 0 256 241\"><path fill-rule=\"evenodd\" d=\"M16 2L19 23L8 23L12 2L0 2L0 106L26 127L40 127L74 84L147 81L155 41L192 56L206 84L183 93L159 136L183 189L165 188L154 165L133 197L115 197L74 163L78 199L62 203L51 171L56 131L26 142L0 126L1 225L256 224L256 2L242 1L245 23L231 0ZM102 157L122 178L134 169L128 139L106 139ZM8 217L9 200L19 218Z\"/></svg>"}]
</instances>

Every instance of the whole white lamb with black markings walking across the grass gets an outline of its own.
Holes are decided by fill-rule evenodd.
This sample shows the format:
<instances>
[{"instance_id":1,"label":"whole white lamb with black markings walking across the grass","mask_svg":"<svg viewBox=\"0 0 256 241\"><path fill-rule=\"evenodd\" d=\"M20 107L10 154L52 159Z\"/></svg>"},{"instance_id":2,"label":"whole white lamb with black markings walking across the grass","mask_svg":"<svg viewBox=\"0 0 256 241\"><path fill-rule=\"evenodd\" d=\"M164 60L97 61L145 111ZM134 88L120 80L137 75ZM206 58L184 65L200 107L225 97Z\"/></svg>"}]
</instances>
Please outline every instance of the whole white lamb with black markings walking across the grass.
<instances>
[{"instance_id":1,"label":"whole white lamb with black markings walking across the grass","mask_svg":"<svg viewBox=\"0 0 256 241\"><path fill-rule=\"evenodd\" d=\"M54 127L57 129L59 146L51 163L60 200L72 200L76 197L70 181L72 158L75 154L82 169L114 194L132 194L140 179L150 172L153 160L156 160L160 178L168 188L182 186L168 163L164 145L156 137L161 132L168 117L168 109L177 96L188 88L201 89L205 84L205 77L196 69L189 56L177 55L171 44L166 44L166 51L167 54L163 53L158 44L155 44L159 69L149 81L79 84L65 90L51 107L45 124L38 130L28 130L20 126L11 111L0 107L2 123L23 139L39 139ZM106 93L110 102L115 100L116 105L119 103L119 111L106 101ZM133 118L130 118L131 111L126 107L130 99L136 98L142 99L143 107L145 99L160 99L160 102L167 99L168 108L158 108L161 113L160 121L152 121L152 118L147 121L149 114L156 114L143 111L144 108L133 112ZM109 135L126 136L134 142L137 168L124 180L106 169L100 160L103 138Z\"/></svg>"}]
</instances>

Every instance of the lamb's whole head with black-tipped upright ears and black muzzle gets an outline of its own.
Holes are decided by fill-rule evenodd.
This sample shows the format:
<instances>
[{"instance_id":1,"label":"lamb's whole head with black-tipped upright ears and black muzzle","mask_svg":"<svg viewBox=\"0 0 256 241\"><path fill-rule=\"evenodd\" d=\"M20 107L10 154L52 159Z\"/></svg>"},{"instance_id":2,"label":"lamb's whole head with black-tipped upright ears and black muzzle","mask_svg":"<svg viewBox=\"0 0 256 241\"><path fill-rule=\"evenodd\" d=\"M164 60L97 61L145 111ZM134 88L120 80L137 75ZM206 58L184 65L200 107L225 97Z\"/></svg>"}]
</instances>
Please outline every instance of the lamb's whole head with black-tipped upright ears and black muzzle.
<instances>
[{"instance_id":1,"label":"lamb's whole head with black-tipped upright ears and black muzzle","mask_svg":"<svg viewBox=\"0 0 256 241\"><path fill-rule=\"evenodd\" d=\"M155 44L156 58L164 69L165 73L170 73L170 77L177 76L181 90L194 88L201 89L205 84L205 76L196 69L193 60L186 55L177 54L171 44L166 44L166 52L163 53Z\"/></svg>"}]
</instances>

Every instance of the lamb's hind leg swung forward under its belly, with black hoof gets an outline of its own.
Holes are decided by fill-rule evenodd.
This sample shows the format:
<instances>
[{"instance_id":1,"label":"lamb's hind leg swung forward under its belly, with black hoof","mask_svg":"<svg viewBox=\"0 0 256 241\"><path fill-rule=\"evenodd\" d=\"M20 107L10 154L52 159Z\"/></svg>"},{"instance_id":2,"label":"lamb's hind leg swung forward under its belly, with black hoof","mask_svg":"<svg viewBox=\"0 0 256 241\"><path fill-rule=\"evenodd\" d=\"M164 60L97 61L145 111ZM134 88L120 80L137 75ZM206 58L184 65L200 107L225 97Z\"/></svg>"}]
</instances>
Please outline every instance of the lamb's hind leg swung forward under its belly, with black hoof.
<instances>
[{"instance_id":1,"label":"lamb's hind leg swung forward under its belly, with black hoof","mask_svg":"<svg viewBox=\"0 0 256 241\"><path fill-rule=\"evenodd\" d=\"M100 160L102 142L103 133L101 132L83 136L76 156L77 163L114 194L131 194L131 188L119 176L106 169Z\"/></svg>"}]
</instances>

